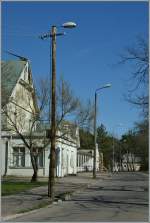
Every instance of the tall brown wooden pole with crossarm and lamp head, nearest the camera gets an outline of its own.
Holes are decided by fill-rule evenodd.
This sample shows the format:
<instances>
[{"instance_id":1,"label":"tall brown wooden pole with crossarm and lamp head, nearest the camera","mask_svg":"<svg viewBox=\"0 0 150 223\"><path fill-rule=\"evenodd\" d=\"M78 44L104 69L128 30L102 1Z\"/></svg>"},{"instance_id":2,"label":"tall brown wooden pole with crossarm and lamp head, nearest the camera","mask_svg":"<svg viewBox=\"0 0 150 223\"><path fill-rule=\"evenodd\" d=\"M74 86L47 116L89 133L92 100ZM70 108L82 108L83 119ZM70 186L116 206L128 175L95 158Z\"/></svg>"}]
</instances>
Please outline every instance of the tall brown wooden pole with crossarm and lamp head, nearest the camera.
<instances>
[{"instance_id":1,"label":"tall brown wooden pole with crossarm and lamp head, nearest the camera","mask_svg":"<svg viewBox=\"0 0 150 223\"><path fill-rule=\"evenodd\" d=\"M63 28L75 28L74 22L66 22L61 25ZM65 33L57 33L57 26L52 26L51 32L40 36L41 39L51 37L52 40L52 81L51 81L51 150L49 163L48 196L54 199L54 179L55 179L55 145L56 145L56 36Z\"/></svg>"}]
</instances>

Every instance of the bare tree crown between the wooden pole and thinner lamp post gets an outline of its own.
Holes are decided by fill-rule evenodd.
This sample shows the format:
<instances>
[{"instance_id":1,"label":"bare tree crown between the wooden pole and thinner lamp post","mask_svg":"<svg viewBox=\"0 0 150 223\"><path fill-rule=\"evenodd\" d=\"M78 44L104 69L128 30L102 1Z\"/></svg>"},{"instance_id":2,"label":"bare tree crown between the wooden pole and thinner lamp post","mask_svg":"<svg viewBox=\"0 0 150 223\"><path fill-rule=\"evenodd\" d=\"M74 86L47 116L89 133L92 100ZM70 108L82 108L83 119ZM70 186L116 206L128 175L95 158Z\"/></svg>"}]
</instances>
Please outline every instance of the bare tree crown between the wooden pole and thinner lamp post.
<instances>
[{"instance_id":1,"label":"bare tree crown between the wooden pole and thinner lamp post","mask_svg":"<svg viewBox=\"0 0 150 223\"><path fill-rule=\"evenodd\" d=\"M91 101L81 101L74 95L69 83L61 77L57 86L56 130L63 130L62 125L66 120L79 128L90 129L93 127L93 117L94 106ZM67 132L62 134L61 137Z\"/></svg>"}]
</instances>

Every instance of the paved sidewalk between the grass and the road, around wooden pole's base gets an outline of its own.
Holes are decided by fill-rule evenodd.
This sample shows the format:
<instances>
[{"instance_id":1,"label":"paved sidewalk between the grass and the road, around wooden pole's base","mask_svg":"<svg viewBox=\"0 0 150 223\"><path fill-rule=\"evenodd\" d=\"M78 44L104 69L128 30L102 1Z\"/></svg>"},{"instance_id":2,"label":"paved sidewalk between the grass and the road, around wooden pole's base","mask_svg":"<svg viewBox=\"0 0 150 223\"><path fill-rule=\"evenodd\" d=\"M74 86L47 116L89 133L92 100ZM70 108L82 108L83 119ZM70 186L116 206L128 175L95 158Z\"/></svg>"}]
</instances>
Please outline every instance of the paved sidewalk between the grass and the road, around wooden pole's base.
<instances>
[{"instance_id":1,"label":"paved sidewalk between the grass and the road, around wooden pole's base","mask_svg":"<svg viewBox=\"0 0 150 223\"><path fill-rule=\"evenodd\" d=\"M110 174L102 173L98 175L98 179L106 179ZM45 180L45 179L43 179ZM56 201L69 199L70 195L84 190L90 185L96 183L96 179L92 178L92 173L78 173L77 176L67 176L64 178L57 178L55 183ZM50 204L47 197L47 186L37 187L26 192L21 192L15 195L3 196L2 204L2 220L8 220L34 209L38 209Z\"/></svg>"}]
</instances>

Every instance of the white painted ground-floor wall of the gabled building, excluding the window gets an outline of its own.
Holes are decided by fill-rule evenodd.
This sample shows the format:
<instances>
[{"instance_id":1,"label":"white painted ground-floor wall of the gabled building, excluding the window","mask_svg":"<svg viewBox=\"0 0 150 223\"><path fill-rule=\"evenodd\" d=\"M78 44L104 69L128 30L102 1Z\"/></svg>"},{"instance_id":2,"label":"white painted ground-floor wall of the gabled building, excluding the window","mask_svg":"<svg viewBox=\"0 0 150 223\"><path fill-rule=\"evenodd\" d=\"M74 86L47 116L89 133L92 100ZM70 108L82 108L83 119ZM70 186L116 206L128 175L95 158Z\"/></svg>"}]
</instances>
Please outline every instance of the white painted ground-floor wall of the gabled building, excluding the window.
<instances>
[{"instance_id":1,"label":"white painted ground-floor wall of the gabled building, excluding the window","mask_svg":"<svg viewBox=\"0 0 150 223\"><path fill-rule=\"evenodd\" d=\"M8 148L8 169L7 175L16 175L16 176L32 176L33 169L30 160L30 152L28 148L25 148L24 143L21 139L8 139L9 148ZM39 140L39 146L40 146ZM13 147L24 147L25 148L25 167L14 167L13 165ZM5 143L3 140L3 163L2 163L2 175L5 171ZM59 148L58 153L58 162L56 165L56 174L58 177L64 177L68 174L76 174L76 159L77 159L77 148L74 143L64 143L59 141L56 143L56 148ZM44 150L44 165L43 168L39 168L38 176L47 176L49 175L49 155L50 155L50 145L47 146Z\"/></svg>"}]
</instances>

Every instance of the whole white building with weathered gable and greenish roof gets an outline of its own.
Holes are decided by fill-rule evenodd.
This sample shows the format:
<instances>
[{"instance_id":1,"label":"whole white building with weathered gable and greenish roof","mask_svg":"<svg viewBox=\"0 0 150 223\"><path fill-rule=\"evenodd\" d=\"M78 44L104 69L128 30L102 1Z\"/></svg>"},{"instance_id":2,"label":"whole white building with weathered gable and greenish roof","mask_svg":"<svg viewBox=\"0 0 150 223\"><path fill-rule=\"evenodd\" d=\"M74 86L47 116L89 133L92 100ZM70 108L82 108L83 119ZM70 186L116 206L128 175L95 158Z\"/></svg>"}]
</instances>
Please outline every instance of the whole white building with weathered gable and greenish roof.
<instances>
[{"instance_id":1,"label":"whole white building with weathered gable and greenish roof","mask_svg":"<svg viewBox=\"0 0 150 223\"><path fill-rule=\"evenodd\" d=\"M19 131L28 137L33 113L38 112L31 67L28 61L2 62L2 139L1 175L32 176L30 151L16 133L4 111L7 111ZM35 151L39 152L38 175L48 176L50 144L43 148L46 131L35 131ZM68 126L69 128L69 126ZM58 133L60 134L60 133ZM79 130L73 127L73 134L56 141L56 176L77 173L77 149L80 147ZM45 137L45 138L43 138Z\"/></svg>"}]
</instances>

